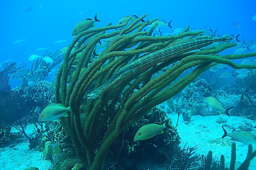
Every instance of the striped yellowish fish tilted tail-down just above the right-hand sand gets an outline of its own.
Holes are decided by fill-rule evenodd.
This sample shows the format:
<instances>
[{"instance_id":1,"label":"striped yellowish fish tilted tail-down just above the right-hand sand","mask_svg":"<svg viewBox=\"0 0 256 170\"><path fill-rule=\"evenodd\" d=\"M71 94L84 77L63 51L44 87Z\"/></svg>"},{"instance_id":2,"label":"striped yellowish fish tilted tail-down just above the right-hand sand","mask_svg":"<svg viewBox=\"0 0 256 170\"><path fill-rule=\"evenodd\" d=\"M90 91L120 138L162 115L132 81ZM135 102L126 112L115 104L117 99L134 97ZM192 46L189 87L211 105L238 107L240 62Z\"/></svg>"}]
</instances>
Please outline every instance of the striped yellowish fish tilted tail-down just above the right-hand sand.
<instances>
[{"instance_id":1,"label":"striped yellowish fish tilted tail-down just above the right-hand sand","mask_svg":"<svg viewBox=\"0 0 256 170\"><path fill-rule=\"evenodd\" d=\"M209 109L212 110L216 110L218 113L226 113L226 115L229 115L229 110L231 108L224 108L223 104L221 104L220 102L218 102L217 99L215 99L214 97L205 97L204 98L204 102L209 106Z\"/></svg>"}]
</instances>

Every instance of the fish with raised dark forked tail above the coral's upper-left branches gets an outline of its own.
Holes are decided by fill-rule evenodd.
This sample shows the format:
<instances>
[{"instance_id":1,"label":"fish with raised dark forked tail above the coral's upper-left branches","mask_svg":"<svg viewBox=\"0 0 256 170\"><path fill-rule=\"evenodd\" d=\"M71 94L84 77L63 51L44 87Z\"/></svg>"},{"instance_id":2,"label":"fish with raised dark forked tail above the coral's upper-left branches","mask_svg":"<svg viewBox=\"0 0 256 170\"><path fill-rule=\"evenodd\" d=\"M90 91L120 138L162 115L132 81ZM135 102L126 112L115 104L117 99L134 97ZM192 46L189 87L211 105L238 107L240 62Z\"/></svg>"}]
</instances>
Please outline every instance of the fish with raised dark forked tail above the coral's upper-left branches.
<instances>
[{"instance_id":1,"label":"fish with raised dark forked tail above the coral's upper-left branches","mask_svg":"<svg viewBox=\"0 0 256 170\"><path fill-rule=\"evenodd\" d=\"M91 18L87 18L83 21L78 22L72 31L72 36L78 35L82 31L85 31L94 27L95 26L94 22L100 22L100 20L98 20L97 18L97 13L94 17L94 20L92 20Z\"/></svg>"}]
</instances>

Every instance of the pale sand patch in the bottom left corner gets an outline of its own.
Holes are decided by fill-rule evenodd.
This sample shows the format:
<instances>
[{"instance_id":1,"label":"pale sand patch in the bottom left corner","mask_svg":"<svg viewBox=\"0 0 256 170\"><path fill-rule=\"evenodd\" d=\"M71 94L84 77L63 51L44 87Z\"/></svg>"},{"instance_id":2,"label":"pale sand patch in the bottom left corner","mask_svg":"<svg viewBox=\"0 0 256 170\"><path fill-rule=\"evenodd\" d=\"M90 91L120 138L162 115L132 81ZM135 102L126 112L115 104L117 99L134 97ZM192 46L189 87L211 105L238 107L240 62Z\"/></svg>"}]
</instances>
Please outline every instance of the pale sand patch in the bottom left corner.
<instances>
[{"instance_id":1,"label":"pale sand patch in the bottom left corner","mask_svg":"<svg viewBox=\"0 0 256 170\"><path fill-rule=\"evenodd\" d=\"M26 127L29 137L34 136L34 125ZM15 132L12 129L12 132ZM25 137L17 139L15 144L0 148L0 170L24 170L28 167L36 167L39 170L50 170L52 163L45 160L41 152L29 149L29 143Z\"/></svg>"}]
</instances>

